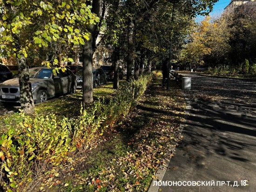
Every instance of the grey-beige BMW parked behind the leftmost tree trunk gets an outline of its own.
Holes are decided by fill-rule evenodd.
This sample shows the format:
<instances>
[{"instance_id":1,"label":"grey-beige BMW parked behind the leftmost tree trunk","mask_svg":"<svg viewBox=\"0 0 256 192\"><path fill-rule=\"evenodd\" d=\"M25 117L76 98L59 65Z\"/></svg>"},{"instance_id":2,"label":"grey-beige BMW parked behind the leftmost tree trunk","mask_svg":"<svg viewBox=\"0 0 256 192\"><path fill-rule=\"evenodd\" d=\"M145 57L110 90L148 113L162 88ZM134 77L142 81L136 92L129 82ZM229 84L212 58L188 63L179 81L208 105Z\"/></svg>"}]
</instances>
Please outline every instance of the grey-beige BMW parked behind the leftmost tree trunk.
<instances>
[{"instance_id":1,"label":"grey-beige BMW parked behind the leftmost tree trunk","mask_svg":"<svg viewBox=\"0 0 256 192\"><path fill-rule=\"evenodd\" d=\"M58 94L75 93L76 78L74 73L67 69L60 70L56 76L53 68L44 66L29 69L32 94L35 103L42 103ZM0 84L0 101L20 102L19 79L9 79Z\"/></svg>"}]
</instances>

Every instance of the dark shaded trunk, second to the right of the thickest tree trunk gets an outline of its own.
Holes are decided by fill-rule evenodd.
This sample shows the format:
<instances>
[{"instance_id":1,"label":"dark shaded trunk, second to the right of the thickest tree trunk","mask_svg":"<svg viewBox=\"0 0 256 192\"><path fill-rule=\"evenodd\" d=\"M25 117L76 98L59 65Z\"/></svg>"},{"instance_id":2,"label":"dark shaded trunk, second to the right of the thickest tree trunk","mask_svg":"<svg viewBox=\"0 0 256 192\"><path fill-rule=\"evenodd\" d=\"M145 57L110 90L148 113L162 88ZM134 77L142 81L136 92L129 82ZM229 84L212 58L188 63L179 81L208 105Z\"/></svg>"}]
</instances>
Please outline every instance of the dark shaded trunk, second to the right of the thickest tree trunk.
<instances>
[{"instance_id":1,"label":"dark shaded trunk, second to the right of the thickest tree trunk","mask_svg":"<svg viewBox=\"0 0 256 192\"><path fill-rule=\"evenodd\" d=\"M134 60L134 23L132 20L129 20L129 33L128 33L128 58L127 58L127 75L126 81L130 80L132 76L132 66Z\"/></svg>"}]
</instances>

